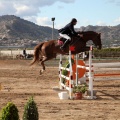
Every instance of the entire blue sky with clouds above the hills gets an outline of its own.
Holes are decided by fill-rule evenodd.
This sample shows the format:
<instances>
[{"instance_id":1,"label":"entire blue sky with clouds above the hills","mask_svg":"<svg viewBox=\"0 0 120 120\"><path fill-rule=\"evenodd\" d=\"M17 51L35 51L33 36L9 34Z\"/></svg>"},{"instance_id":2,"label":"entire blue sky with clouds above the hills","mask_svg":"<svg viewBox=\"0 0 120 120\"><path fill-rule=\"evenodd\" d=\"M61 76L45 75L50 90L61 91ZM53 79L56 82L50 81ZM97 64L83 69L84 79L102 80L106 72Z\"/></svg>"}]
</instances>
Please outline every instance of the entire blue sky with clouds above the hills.
<instances>
[{"instance_id":1,"label":"entire blue sky with clouds above the hills","mask_svg":"<svg viewBox=\"0 0 120 120\"><path fill-rule=\"evenodd\" d=\"M0 0L0 16L15 15L37 25L60 29L77 19L75 28L120 24L120 0Z\"/></svg>"}]
</instances>

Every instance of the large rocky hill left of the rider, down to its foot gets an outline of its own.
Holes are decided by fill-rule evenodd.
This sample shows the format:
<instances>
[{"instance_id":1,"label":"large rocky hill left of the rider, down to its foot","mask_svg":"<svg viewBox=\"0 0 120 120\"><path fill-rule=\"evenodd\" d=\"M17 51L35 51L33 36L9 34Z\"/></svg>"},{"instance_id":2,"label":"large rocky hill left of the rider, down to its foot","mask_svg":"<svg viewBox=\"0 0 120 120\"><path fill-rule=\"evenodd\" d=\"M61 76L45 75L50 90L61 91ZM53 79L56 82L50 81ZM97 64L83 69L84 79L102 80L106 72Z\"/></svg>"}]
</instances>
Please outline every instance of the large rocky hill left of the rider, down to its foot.
<instances>
[{"instance_id":1,"label":"large rocky hill left of the rider, down to its foot","mask_svg":"<svg viewBox=\"0 0 120 120\"><path fill-rule=\"evenodd\" d=\"M57 36L58 32L54 29L54 38ZM14 15L0 16L0 45L8 45L8 43L25 45L30 40L41 42L51 38L52 28L50 27L38 26Z\"/></svg>"}]
</instances>

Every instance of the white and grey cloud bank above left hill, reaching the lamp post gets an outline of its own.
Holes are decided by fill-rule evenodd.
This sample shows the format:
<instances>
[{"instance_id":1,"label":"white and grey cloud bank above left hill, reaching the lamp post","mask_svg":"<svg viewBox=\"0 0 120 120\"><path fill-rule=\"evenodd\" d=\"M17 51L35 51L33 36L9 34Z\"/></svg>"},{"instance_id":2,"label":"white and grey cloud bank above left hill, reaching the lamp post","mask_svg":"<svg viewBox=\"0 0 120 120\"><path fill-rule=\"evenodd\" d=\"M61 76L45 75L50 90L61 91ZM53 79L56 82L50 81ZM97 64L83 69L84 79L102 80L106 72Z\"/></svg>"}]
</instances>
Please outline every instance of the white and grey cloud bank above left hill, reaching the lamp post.
<instances>
[{"instance_id":1,"label":"white and grey cloud bank above left hill, reaching the lamp post","mask_svg":"<svg viewBox=\"0 0 120 120\"><path fill-rule=\"evenodd\" d=\"M0 15L16 15L38 25L52 26L47 17L40 18L41 7L51 6L56 2L73 3L76 0L0 0ZM62 8L62 6L58 6Z\"/></svg>"}]
</instances>

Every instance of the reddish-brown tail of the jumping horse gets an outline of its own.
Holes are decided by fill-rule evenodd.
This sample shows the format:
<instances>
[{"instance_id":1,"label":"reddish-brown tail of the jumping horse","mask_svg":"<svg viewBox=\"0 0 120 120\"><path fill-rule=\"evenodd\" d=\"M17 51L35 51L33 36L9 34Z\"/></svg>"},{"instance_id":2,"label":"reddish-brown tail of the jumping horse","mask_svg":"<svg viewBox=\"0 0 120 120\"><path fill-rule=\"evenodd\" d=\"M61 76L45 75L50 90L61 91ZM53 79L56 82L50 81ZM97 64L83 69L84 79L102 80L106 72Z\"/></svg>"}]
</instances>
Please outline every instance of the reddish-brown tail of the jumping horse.
<instances>
[{"instance_id":1,"label":"reddish-brown tail of the jumping horse","mask_svg":"<svg viewBox=\"0 0 120 120\"><path fill-rule=\"evenodd\" d=\"M34 58L33 58L33 61L31 62L30 65L33 65L35 62L39 61L39 55L41 53L41 47L42 45L44 44L44 42L38 44L35 49L34 49Z\"/></svg>"}]
</instances>

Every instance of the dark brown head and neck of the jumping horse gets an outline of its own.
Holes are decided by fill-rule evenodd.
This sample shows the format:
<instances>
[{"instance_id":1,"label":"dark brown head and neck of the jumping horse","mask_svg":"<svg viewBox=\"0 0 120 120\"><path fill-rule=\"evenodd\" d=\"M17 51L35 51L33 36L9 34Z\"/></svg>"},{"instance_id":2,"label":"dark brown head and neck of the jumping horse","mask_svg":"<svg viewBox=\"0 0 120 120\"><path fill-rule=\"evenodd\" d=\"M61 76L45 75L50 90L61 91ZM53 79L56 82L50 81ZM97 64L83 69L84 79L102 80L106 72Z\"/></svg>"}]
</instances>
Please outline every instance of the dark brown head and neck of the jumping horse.
<instances>
[{"instance_id":1,"label":"dark brown head and neck of the jumping horse","mask_svg":"<svg viewBox=\"0 0 120 120\"><path fill-rule=\"evenodd\" d=\"M101 43L101 33L97 33L94 31L85 31L85 32L79 32L83 37L83 39L87 42L89 40L92 40L94 45L97 47L97 49L102 48Z\"/></svg>"}]
</instances>

